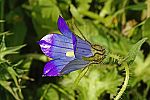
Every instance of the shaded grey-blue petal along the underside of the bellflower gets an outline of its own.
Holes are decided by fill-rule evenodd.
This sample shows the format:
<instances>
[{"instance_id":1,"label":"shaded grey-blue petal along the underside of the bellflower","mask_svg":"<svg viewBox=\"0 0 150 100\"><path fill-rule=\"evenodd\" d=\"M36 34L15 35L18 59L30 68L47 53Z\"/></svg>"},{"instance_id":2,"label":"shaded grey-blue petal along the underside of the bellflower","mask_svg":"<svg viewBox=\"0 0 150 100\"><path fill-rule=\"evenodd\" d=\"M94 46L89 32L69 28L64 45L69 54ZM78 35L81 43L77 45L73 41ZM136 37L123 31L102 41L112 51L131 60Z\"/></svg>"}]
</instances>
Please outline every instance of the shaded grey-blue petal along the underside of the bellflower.
<instances>
[{"instance_id":1,"label":"shaded grey-blue petal along the underside of the bellflower","mask_svg":"<svg viewBox=\"0 0 150 100\"><path fill-rule=\"evenodd\" d=\"M60 72L60 74L67 74L70 73L72 71L81 69L86 67L89 64L89 61L84 61L84 60L79 60L79 59L75 59L70 61Z\"/></svg>"}]
</instances>

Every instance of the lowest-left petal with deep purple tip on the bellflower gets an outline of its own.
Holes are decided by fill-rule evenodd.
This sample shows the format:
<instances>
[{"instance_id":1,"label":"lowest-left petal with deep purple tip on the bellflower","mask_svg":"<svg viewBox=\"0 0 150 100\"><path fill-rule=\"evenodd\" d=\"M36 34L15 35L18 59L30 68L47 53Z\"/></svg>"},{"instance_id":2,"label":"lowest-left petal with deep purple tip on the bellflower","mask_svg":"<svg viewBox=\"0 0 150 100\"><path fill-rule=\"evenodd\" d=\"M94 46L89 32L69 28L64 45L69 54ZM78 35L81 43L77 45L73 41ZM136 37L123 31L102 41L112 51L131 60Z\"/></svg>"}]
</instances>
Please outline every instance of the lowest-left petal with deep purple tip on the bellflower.
<instances>
[{"instance_id":1,"label":"lowest-left petal with deep purple tip on the bellflower","mask_svg":"<svg viewBox=\"0 0 150 100\"><path fill-rule=\"evenodd\" d=\"M46 63L43 75L44 76L60 76L60 71L70 62L70 59L51 60Z\"/></svg>"}]
</instances>

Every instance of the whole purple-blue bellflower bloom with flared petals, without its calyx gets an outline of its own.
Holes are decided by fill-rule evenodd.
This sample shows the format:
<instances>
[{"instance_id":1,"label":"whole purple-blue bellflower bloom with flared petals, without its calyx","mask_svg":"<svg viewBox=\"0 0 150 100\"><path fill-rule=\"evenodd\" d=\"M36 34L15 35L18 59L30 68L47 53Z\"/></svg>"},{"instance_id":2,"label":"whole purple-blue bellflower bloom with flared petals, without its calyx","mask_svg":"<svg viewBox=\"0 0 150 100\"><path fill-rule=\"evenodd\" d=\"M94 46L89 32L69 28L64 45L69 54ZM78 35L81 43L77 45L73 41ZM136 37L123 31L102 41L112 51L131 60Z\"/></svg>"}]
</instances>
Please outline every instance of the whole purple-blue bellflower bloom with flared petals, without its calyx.
<instances>
[{"instance_id":1,"label":"whole purple-blue bellflower bloom with flared petals, without its calyx","mask_svg":"<svg viewBox=\"0 0 150 100\"><path fill-rule=\"evenodd\" d=\"M48 34L38 42L42 52L52 58L44 66L44 76L61 76L84 68L90 61L83 57L93 56L90 43L73 34L61 16L57 25L62 34Z\"/></svg>"}]
</instances>

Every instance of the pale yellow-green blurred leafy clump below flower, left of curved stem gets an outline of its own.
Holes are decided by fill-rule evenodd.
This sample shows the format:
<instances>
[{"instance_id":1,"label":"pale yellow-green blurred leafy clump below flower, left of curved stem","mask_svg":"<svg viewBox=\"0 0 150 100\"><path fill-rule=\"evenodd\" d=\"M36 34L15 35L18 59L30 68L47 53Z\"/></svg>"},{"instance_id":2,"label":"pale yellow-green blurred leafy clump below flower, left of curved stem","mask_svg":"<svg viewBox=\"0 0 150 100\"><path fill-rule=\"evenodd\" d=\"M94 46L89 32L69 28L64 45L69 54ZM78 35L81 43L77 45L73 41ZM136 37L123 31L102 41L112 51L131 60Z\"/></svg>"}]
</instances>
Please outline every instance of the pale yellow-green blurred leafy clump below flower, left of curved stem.
<instances>
[{"instance_id":1,"label":"pale yellow-green blurred leafy clump below flower, left of curved stem","mask_svg":"<svg viewBox=\"0 0 150 100\"><path fill-rule=\"evenodd\" d=\"M122 78L117 74L116 69L100 72L97 72L95 70L91 72L88 81L88 98L91 98L90 100L96 100L95 97L97 97L98 95L100 96L104 91L115 95L118 90L117 87L122 82Z\"/></svg>"}]
</instances>

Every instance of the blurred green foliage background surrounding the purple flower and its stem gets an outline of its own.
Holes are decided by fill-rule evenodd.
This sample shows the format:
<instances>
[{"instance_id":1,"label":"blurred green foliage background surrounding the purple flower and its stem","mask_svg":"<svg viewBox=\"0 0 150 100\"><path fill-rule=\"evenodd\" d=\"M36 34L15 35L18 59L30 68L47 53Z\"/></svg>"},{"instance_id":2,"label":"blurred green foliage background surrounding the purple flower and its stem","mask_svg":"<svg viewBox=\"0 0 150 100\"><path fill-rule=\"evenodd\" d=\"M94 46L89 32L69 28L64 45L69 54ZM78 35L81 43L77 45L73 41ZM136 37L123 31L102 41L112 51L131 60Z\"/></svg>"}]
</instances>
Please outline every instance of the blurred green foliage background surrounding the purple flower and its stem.
<instances>
[{"instance_id":1,"label":"blurred green foliage background surrounding the purple flower and its stem","mask_svg":"<svg viewBox=\"0 0 150 100\"><path fill-rule=\"evenodd\" d=\"M107 51L76 88L81 70L42 77L49 58L37 41L60 33L59 15ZM0 100L112 100L124 82L123 58L130 78L121 99L150 100L150 0L0 0Z\"/></svg>"}]
</instances>

